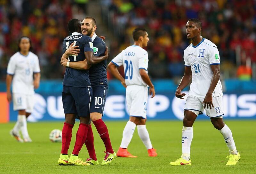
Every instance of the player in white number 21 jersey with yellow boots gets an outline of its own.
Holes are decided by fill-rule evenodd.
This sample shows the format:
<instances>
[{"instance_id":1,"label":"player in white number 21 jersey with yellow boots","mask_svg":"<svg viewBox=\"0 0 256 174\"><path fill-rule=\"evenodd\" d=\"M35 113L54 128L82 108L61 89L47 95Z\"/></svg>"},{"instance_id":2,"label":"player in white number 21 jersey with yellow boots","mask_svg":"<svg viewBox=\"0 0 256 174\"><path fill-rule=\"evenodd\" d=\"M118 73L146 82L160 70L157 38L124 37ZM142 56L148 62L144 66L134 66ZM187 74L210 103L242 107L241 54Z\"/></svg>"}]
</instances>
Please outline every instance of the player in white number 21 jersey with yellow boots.
<instances>
[{"instance_id":1,"label":"player in white number 21 jersey with yellow boots","mask_svg":"<svg viewBox=\"0 0 256 174\"><path fill-rule=\"evenodd\" d=\"M193 123L204 109L213 126L220 131L228 146L230 155L226 165L235 165L240 159L231 130L223 122L222 86L220 83L220 55L215 44L201 36L202 23L189 19L186 25L187 38L192 43L184 50L185 73L175 92L184 99L181 91L190 83L186 100L182 128L182 156L170 165L191 165L190 145L193 138Z\"/></svg>"}]
</instances>

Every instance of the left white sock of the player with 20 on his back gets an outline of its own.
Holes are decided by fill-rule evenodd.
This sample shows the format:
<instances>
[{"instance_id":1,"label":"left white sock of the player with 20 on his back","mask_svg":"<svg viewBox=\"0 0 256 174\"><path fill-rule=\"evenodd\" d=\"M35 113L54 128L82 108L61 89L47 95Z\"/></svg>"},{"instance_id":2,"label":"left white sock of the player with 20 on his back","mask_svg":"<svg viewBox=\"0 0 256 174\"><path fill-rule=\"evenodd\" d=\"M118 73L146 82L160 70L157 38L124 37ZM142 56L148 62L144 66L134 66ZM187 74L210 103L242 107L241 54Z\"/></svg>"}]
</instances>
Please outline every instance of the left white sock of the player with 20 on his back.
<instances>
[{"instance_id":1,"label":"left white sock of the player with 20 on his back","mask_svg":"<svg viewBox=\"0 0 256 174\"><path fill-rule=\"evenodd\" d=\"M134 130L136 128L136 124L133 123L132 121L128 121L126 126L124 127L124 132L123 132L123 138L120 147L121 148L127 148L129 143L132 140L132 135L134 133Z\"/></svg>"}]
</instances>

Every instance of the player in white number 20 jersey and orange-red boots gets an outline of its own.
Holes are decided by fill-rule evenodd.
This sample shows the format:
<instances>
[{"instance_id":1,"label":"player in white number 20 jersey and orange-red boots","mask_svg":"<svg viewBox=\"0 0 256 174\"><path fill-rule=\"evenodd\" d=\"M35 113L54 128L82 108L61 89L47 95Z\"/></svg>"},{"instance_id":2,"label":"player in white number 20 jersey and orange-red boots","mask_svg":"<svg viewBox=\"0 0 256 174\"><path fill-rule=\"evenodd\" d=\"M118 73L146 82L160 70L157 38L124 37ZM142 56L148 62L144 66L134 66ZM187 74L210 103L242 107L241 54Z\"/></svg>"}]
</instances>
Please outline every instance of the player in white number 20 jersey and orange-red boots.
<instances>
[{"instance_id":1,"label":"player in white number 20 jersey and orange-red boots","mask_svg":"<svg viewBox=\"0 0 256 174\"><path fill-rule=\"evenodd\" d=\"M148 156L157 156L146 128L148 86L149 94L152 93L151 98L155 96L154 85L148 76L148 53L142 48L148 44L148 33L143 28L136 28L132 32L132 37L134 44L124 49L108 64L111 73L126 87L126 103L130 115L130 119L124 127L123 139L117 156L137 157L127 151L136 125L140 139L148 149ZM125 79L117 70L117 67L121 65L124 65Z\"/></svg>"}]
</instances>

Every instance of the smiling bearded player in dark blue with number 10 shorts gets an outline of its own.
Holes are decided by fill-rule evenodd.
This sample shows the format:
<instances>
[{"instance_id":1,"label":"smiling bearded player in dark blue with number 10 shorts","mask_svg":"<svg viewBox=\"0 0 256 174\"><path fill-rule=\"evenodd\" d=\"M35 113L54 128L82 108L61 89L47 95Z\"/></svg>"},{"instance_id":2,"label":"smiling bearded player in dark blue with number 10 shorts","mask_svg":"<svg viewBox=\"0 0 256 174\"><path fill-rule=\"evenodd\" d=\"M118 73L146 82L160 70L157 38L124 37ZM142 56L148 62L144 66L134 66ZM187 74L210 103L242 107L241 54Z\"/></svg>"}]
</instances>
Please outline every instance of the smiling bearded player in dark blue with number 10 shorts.
<instances>
[{"instance_id":1,"label":"smiling bearded player in dark blue with number 10 shorts","mask_svg":"<svg viewBox=\"0 0 256 174\"><path fill-rule=\"evenodd\" d=\"M106 45L105 42L96 35L95 30L97 29L96 21L92 17L84 18L81 26L81 31L83 35L90 36L93 42L93 54L96 56L104 55ZM74 45L73 45L74 46ZM75 50L75 47L73 48ZM76 49L78 50L78 49ZM68 50L66 51L68 52ZM78 54L78 52L69 52ZM65 66L67 60L63 61L63 65ZM92 64L90 60L87 60L87 63ZM87 69L88 66L85 64L85 61L81 62L70 62L69 67L74 69ZM94 64L90 67L90 81L92 84L93 97L90 106L90 118L95 125L100 138L105 144L106 147L106 156L102 161L102 165L111 163L113 159L116 158L116 153L113 151L108 128L102 120L102 114L104 110L104 104L106 101L107 93L108 93L108 79L107 79L107 60L103 60L98 64ZM98 164L94 145L93 145L93 134L92 128L89 128L87 139L85 141L85 145L89 152L90 158L86 161L89 164Z\"/></svg>"}]
</instances>

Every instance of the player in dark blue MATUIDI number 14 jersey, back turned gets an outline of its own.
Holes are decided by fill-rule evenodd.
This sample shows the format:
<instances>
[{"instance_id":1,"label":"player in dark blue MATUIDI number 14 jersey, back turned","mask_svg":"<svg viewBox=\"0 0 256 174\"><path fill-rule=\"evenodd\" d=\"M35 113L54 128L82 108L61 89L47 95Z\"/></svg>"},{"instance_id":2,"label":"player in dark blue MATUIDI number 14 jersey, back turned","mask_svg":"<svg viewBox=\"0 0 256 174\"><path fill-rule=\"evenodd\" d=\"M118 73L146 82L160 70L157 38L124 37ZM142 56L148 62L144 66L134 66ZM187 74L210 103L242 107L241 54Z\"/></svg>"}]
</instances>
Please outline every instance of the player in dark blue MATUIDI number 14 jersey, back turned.
<instances>
[{"instance_id":1,"label":"player in dark blue MATUIDI number 14 jersey, back turned","mask_svg":"<svg viewBox=\"0 0 256 174\"><path fill-rule=\"evenodd\" d=\"M65 51L71 44L78 46L81 50L78 54L68 55L68 60L70 62L76 62L90 59L91 62L98 63L107 59L108 54L101 57L95 57L93 55L92 39L89 36L81 34L81 25L82 23L78 19L71 19L68 22L68 30L71 35L64 39L63 50ZM66 54L63 54L63 56L66 56ZM65 112L65 123L62 129L62 148L58 163L60 165L90 165L78 158L78 153L86 140L90 127L88 114L93 94L89 79L89 70L68 68L67 65L62 84L62 103ZM68 159L68 148L76 117L80 119L80 124L76 133L74 150Z\"/></svg>"}]
</instances>

